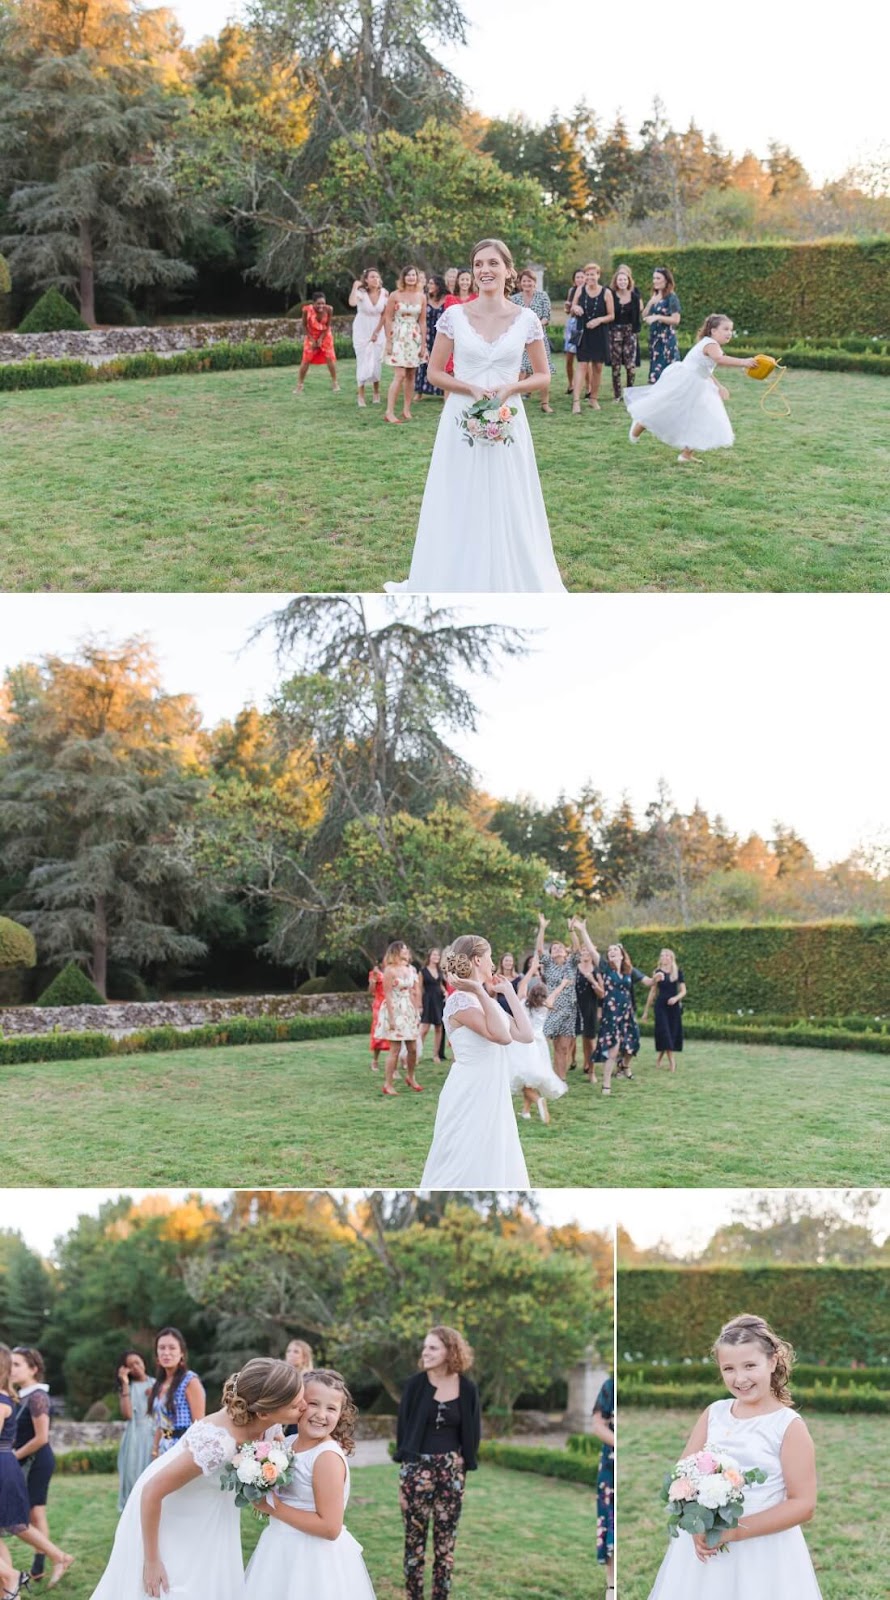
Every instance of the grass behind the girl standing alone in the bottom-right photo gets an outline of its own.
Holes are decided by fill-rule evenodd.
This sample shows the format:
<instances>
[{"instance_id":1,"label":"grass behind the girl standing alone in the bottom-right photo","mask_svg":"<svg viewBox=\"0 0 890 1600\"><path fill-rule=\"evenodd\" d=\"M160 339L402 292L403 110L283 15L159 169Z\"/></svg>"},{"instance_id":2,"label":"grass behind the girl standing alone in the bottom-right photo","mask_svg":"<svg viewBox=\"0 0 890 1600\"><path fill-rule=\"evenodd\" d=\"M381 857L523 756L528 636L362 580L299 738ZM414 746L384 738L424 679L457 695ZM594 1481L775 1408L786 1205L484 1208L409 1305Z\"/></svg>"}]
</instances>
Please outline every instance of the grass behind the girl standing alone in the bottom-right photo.
<instances>
[{"instance_id":1,"label":"grass behind the girl standing alone in the bottom-right photo","mask_svg":"<svg viewBox=\"0 0 890 1600\"><path fill-rule=\"evenodd\" d=\"M618 1318L621 1322L621 1307ZM717 1387L714 1398L720 1398ZM621 1411L616 1490L621 1600L647 1600L655 1582L668 1549L658 1491L664 1472L679 1459L696 1416L696 1411L647 1411L637 1406ZM868 1462L890 1458L890 1418L820 1413L805 1421L816 1446L821 1493L804 1536L823 1600L885 1600L890 1533L887 1517L876 1514L882 1490ZM719 1557L728 1558L732 1546L730 1557ZM794 1597L788 1595L788 1600Z\"/></svg>"}]
</instances>

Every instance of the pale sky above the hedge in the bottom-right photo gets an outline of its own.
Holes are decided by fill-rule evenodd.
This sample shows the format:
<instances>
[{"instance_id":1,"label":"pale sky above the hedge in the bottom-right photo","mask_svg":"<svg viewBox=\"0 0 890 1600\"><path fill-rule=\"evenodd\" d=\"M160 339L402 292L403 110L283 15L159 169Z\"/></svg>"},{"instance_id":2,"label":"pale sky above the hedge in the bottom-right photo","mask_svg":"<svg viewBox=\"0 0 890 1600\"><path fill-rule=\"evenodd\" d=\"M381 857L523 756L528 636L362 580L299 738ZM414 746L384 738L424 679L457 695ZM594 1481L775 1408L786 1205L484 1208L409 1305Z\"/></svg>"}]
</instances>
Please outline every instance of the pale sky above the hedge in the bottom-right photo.
<instances>
[{"instance_id":1,"label":"pale sky above the hedge in the bottom-right photo","mask_svg":"<svg viewBox=\"0 0 890 1600\"><path fill-rule=\"evenodd\" d=\"M778 1197L772 1189L770 1195ZM853 1208L842 1190L804 1189L824 1211L852 1218ZM650 1250L664 1240L677 1254L703 1250L711 1235L732 1222L740 1205L754 1198L751 1189L624 1189L618 1195L616 1221L627 1230L639 1250ZM884 1190L871 1226L880 1243L890 1234L890 1190Z\"/></svg>"}]
</instances>

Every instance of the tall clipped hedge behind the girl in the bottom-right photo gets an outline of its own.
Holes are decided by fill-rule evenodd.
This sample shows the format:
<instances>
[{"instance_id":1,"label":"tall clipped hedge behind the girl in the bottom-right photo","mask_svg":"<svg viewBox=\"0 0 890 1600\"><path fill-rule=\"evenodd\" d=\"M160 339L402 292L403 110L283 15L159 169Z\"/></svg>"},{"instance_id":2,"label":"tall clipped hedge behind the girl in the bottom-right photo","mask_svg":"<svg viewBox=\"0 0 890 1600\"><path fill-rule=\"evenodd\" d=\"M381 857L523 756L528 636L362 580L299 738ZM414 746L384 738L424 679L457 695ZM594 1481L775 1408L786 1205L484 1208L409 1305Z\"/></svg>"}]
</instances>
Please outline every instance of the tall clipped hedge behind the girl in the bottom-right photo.
<instances>
[{"instance_id":1,"label":"tall clipped hedge behind the girl in the bottom-right photo","mask_svg":"<svg viewBox=\"0 0 890 1600\"><path fill-rule=\"evenodd\" d=\"M720 1326L741 1312L765 1317L802 1362L877 1366L887 1357L890 1269L624 1267L618 1274L618 1355L700 1360Z\"/></svg>"}]
</instances>

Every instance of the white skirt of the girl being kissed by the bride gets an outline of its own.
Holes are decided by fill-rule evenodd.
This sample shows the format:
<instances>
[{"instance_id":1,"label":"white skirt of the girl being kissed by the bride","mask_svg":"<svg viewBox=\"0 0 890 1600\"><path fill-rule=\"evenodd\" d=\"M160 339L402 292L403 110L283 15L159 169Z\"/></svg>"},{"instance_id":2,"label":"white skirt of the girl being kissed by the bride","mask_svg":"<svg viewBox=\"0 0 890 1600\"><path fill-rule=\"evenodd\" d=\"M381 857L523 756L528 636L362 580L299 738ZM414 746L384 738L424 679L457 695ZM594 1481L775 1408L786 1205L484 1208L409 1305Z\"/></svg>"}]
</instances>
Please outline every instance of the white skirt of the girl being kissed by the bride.
<instances>
[{"instance_id":1,"label":"white skirt of the girl being kissed by the bride","mask_svg":"<svg viewBox=\"0 0 890 1600\"><path fill-rule=\"evenodd\" d=\"M271 1522L247 1570L245 1600L375 1600L375 1590L347 1528L317 1539Z\"/></svg>"}]
</instances>

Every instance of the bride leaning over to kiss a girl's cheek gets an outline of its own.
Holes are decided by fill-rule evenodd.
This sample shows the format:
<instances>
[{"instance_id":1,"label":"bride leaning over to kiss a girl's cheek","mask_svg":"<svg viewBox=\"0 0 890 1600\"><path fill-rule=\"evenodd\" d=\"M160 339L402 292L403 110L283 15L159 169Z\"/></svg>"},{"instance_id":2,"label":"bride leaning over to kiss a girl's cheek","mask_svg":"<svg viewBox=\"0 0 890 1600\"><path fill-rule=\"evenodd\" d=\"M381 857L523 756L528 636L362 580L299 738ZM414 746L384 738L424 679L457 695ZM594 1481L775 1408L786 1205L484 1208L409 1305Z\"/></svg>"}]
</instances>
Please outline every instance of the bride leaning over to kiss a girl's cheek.
<instances>
[{"instance_id":1,"label":"bride leaning over to kiss a girl's cheek","mask_svg":"<svg viewBox=\"0 0 890 1600\"><path fill-rule=\"evenodd\" d=\"M259 1357L229 1378L222 1410L146 1467L123 1507L93 1600L243 1600L242 1514L219 1470L248 1438L299 1422L303 1378Z\"/></svg>"}]
</instances>

